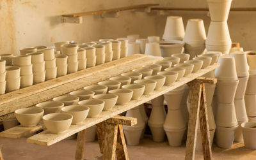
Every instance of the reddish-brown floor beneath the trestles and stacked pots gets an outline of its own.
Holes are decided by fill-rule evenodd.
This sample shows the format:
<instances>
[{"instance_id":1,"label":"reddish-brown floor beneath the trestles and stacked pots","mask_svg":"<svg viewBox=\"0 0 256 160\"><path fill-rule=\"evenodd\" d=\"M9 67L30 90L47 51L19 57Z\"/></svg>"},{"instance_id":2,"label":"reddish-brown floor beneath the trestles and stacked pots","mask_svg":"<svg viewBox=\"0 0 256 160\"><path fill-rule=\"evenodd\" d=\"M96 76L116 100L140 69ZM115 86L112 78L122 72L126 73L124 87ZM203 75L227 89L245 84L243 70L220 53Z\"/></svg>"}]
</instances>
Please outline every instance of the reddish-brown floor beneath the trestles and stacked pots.
<instances>
[{"instance_id":1,"label":"reddish-brown floor beneath the trestles and stacked pots","mask_svg":"<svg viewBox=\"0 0 256 160\"><path fill-rule=\"evenodd\" d=\"M26 143L26 138L0 138L0 147L4 160L70 160L74 159L76 140L63 140L49 147ZM184 159L185 143L182 147L170 147L166 142L156 143L150 137L141 140L138 146L127 146L129 159ZM214 159L256 159L256 150L245 149L243 143L235 143L232 149L220 149L213 145ZM97 142L86 143L85 158L99 156ZM196 159L203 159L202 153L196 152Z\"/></svg>"}]
</instances>

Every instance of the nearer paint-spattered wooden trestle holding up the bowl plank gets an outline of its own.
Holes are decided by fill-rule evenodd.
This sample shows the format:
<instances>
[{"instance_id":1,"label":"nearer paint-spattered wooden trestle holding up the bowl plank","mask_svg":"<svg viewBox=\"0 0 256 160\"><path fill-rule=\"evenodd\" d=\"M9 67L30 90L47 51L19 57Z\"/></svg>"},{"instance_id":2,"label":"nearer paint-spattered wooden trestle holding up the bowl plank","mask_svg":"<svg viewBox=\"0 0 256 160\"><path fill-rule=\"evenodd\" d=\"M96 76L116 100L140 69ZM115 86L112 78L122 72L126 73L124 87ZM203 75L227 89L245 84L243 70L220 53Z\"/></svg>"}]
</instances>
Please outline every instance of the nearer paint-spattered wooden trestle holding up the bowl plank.
<instances>
[{"instance_id":1,"label":"nearer paint-spattered wooden trestle holding up the bowl plank","mask_svg":"<svg viewBox=\"0 0 256 160\"><path fill-rule=\"evenodd\" d=\"M129 159L122 125L134 126L137 119L132 117L115 117L97 124L100 152L104 160Z\"/></svg>"}]
</instances>

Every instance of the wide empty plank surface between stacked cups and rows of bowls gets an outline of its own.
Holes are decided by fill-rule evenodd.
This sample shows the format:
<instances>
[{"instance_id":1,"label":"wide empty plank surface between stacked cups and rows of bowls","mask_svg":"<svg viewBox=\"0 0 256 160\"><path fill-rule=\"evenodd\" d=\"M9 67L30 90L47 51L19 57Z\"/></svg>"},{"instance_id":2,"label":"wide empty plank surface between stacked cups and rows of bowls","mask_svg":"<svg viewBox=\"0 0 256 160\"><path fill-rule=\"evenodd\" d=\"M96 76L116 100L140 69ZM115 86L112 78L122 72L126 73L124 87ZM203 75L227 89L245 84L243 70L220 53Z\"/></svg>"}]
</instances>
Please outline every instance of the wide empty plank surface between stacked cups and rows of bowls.
<instances>
[{"instance_id":1,"label":"wide empty plank surface between stacked cups and rows of bowls","mask_svg":"<svg viewBox=\"0 0 256 160\"><path fill-rule=\"evenodd\" d=\"M20 91L11 92L13 95L16 95L17 98L12 96L12 101L10 101L8 97L6 97L6 99L1 99L1 101L10 102L0 105L0 121L8 118L8 114L19 108L26 108L28 106L36 105L42 101L47 101L54 97L67 94L68 92L76 91L77 89L81 89L87 85L95 84L102 80L106 80L111 76L120 75L121 73L131 71L134 68L140 68L143 65L151 64L161 59L163 58L142 54L131 55L116 61L95 66L93 68L84 69L83 71L77 71L76 73L63 76L63 78L61 76L60 78L63 81L65 81L65 78L67 78L65 81L68 81L67 83L63 83L60 78L56 78L49 83L44 82L42 85L33 85L28 87L28 89L24 88L20 89ZM79 78L77 78L77 76L79 76ZM58 85L58 82L60 82L62 85ZM49 86L45 86L45 84ZM33 92L33 94L31 94L31 92ZM26 94L26 96L20 95L19 93Z\"/></svg>"}]
</instances>

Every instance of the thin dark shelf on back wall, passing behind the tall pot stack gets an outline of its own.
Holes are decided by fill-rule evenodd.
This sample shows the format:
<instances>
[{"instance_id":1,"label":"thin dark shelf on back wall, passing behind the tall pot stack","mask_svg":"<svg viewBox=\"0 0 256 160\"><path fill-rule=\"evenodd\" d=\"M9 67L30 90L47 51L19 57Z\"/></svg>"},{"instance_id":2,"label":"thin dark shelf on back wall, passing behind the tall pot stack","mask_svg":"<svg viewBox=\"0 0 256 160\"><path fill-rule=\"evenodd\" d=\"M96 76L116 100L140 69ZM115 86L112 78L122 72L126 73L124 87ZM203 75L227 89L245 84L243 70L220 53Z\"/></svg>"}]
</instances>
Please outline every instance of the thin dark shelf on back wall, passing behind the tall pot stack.
<instances>
[{"instance_id":1,"label":"thin dark shelf on back wall, passing behind the tall pot stack","mask_svg":"<svg viewBox=\"0 0 256 160\"><path fill-rule=\"evenodd\" d=\"M169 11L209 11L209 8L170 8L170 7L152 7L151 10L169 10ZM230 11L256 11L256 8L230 8Z\"/></svg>"}]
</instances>

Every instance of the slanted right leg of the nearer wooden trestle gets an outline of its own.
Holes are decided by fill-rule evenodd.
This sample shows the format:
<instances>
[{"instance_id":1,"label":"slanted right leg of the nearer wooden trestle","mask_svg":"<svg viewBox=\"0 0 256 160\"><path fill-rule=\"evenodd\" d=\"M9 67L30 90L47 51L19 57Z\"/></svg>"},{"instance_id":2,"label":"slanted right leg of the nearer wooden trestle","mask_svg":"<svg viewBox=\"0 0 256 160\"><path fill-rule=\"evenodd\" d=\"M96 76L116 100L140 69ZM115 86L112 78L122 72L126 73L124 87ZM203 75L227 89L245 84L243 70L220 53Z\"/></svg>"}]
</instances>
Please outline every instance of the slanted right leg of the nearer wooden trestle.
<instances>
[{"instance_id":1,"label":"slanted right leg of the nearer wooden trestle","mask_svg":"<svg viewBox=\"0 0 256 160\"><path fill-rule=\"evenodd\" d=\"M118 125L117 142L116 142L116 159L117 160L128 160L128 152L124 138L124 130L122 125Z\"/></svg>"}]
</instances>

